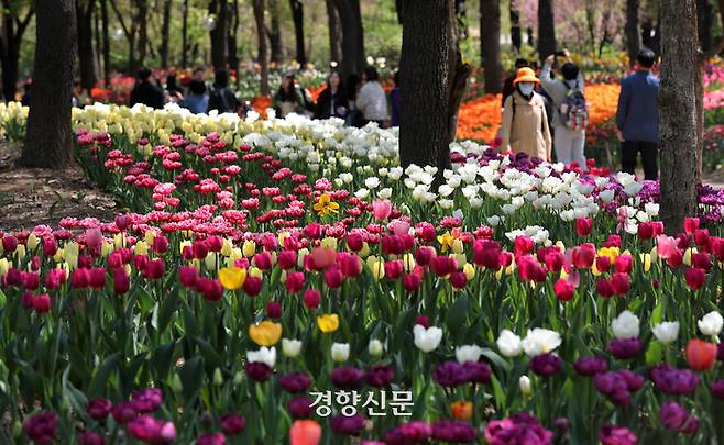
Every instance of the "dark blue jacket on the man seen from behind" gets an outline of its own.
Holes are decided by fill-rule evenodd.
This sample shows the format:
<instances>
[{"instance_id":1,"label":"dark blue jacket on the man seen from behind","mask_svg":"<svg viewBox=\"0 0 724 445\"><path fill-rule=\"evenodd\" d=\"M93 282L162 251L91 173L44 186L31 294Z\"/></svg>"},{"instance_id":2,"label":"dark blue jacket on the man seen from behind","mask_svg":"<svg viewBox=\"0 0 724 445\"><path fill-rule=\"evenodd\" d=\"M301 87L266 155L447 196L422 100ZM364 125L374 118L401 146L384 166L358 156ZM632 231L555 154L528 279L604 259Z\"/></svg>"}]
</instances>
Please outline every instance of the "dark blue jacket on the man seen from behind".
<instances>
[{"instance_id":1,"label":"dark blue jacket on the man seen from behind","mask_svg":"<svg viewBox=\"0 0 724 445\"><path fill-rule=\"evenodd\" d=\"M659 142L659 78L646 70L621 81L616 126L624 141Z\"/></svg>"}]
</instances>

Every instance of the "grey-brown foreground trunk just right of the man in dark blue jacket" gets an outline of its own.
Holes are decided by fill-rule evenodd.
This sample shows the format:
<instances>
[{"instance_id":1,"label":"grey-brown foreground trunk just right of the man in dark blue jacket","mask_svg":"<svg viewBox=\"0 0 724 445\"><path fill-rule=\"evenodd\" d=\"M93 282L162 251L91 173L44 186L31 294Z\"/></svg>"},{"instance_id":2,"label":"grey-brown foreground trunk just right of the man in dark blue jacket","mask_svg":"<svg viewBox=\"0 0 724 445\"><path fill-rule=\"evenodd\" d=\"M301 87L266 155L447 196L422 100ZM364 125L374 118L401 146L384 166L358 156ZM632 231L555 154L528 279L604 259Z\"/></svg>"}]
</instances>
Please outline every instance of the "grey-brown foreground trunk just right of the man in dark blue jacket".
<instances>
[{"instance_id":1,"label":"grey-brown foreground trunk just right of the man in dark blue jacket","mask_svg":"<svg viewBox=\"0 0 724 445\"><path fill-rule=\"evenodd\" d=\"M661 1L661 221L679 233L696 210L696 0Z\"/></svg>"}]
</instances>

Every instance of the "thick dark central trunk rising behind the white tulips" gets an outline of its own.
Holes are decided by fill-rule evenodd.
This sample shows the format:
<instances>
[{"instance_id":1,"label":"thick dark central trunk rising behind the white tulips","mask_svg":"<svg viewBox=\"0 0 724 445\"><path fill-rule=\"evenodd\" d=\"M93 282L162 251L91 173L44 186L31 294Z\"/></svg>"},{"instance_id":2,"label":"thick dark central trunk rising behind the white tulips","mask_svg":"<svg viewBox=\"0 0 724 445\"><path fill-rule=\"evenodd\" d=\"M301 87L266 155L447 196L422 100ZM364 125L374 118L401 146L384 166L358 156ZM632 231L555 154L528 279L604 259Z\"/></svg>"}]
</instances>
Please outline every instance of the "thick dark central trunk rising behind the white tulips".
<instances>
[{"instance_id":1,"label":"thick dark central trunk rising behind the white tulips","mask_svg":"<svg viewBox=\"0 0 724 445\"><path fill-rule=\"evenodd\" d=\"M399 59L399 158L438 167L450 165L458 107L470 67L462 65L453 0L404 0Z\"/></svg>"}]
</instances>

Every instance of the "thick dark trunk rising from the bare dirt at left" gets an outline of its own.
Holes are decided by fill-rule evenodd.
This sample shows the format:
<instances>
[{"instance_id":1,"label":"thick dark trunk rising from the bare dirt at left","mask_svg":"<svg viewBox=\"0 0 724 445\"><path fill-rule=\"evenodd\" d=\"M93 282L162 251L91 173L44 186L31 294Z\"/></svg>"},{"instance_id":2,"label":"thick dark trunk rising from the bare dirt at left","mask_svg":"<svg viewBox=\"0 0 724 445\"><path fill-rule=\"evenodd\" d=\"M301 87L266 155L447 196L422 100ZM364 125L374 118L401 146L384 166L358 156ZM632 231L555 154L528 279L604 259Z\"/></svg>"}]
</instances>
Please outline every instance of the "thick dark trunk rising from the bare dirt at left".
<instances>
[{"instance_id":1,"label":"thick dark trunk rising from the bare dirt at left","mask_svg":"<svg viewBox=\"0 0 724 445\"><path fill-rule=\"evenodd\" d=\"M33 94L21 165L58 168L73 163L70 91L76 57L73 0L36 3Z\"/></svg>"}]
</instances>

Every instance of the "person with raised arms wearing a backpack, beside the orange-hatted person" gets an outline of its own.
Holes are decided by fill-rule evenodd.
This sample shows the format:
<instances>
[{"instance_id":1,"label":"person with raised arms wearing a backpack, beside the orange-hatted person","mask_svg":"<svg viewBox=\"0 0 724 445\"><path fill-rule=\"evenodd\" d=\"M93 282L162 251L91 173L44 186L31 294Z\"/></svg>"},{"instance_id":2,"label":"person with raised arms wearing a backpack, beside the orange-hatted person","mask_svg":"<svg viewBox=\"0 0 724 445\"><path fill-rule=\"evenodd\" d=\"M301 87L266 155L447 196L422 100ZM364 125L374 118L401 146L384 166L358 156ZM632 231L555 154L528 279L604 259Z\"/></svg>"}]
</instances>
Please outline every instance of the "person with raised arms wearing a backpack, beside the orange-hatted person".
<instances>
[{"instance_id":1,"label":"person with raised arms wearing a backpack, beside the orange-hatted person","mask_svg":"<svg viewBox=\"0 0 724 445\"><path fill-rule=\"evenodd\" d=\"M557 55L566 58L566 63L561 67L562 80L556 79L552 75ZM582 170L585 170L584 148L585 126L588 125L585 81L578 65L571 62L570 53L567 49L548 56L540 71L540 82L553 102L551 123L556 159L566 165L577 163Z\"/></svg>"}]
</instances>

